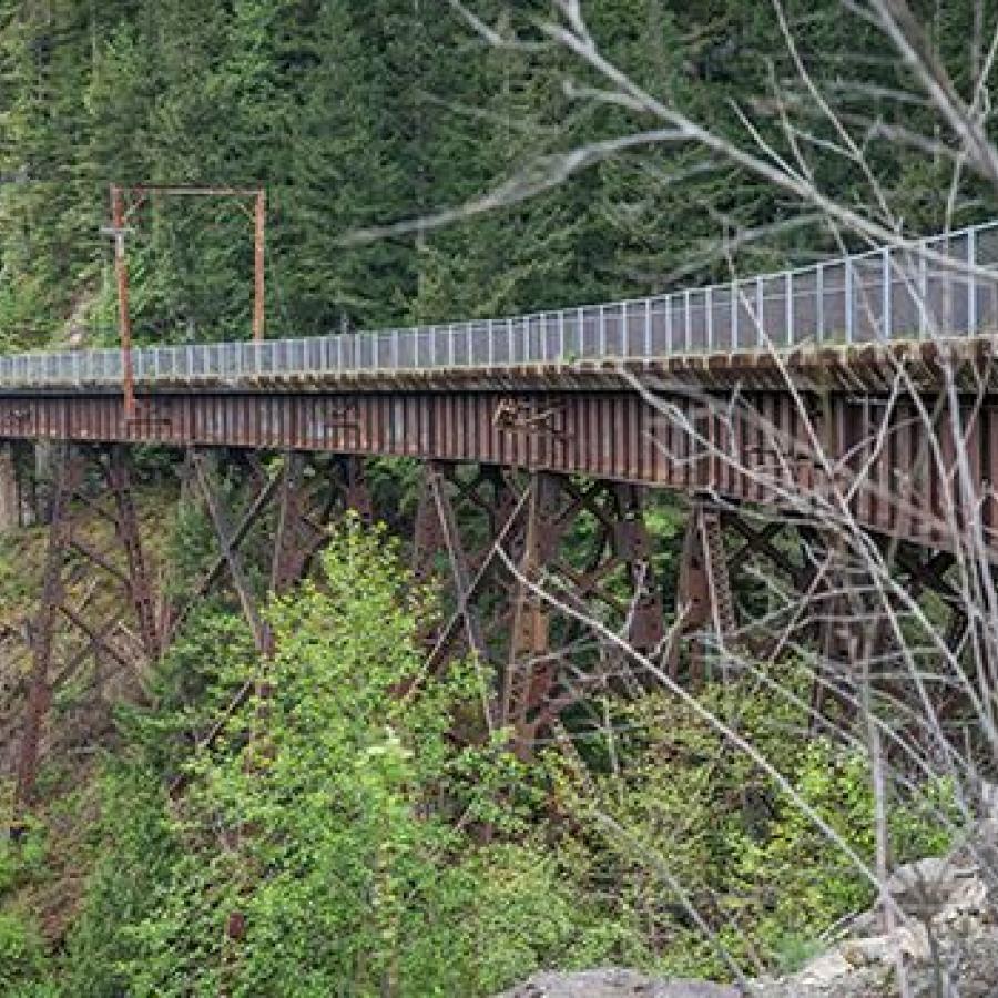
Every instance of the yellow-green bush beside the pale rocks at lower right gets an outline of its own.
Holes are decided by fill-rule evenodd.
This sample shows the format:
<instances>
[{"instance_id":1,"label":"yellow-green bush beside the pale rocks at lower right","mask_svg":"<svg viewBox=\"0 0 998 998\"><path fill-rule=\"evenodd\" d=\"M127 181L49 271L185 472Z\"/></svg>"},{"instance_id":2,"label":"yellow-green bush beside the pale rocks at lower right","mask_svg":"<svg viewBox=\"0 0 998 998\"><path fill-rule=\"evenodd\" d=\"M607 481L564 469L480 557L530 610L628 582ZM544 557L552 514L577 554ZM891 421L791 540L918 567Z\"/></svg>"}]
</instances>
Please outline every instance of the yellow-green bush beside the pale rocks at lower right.
<instances>
[{"instance_id":1,"label":"yellow-green bush beside the pale rocks at lower right","mask_svg":"<svg viewBox=\"0 0 998 998\"><path fill-rule=\"evenodd\" d=\"M775 679L804 692L793 670ZM775 684L707 685L699 700L872 864L874 796L860 750L809 737L802 701ZM559 794L584 829L600 882L617 885L618 913L634 914L652 965L717 977L732 964L747 974L785 969L813 955L823 930L874 902L870 880L794 796L676 697L619 703L614 722L612 772L594 751L597 774L582 781L562 767ZM893 859L944 851L956 817L945 781L895 788Z\"/></svg>"}]
</instances>

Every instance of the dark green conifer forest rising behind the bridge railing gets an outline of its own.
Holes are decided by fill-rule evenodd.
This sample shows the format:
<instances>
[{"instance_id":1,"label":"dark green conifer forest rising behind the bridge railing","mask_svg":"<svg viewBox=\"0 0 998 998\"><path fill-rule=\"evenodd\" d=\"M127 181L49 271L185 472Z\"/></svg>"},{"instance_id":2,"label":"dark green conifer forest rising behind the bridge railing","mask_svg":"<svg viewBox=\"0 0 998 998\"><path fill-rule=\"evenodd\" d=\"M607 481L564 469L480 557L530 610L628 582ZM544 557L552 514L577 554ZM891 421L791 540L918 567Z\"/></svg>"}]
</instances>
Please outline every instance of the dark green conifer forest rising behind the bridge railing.
<instances>
[{"instance_id":1,"label":"dark green conifer forest rising behind the bridge railing","mask_svg":"<svg viewBox=\"0 0 998 998\"><path fill-rule=\"evenodd\" d=\"M4 342L114 335L100 234L111 181L264 185L268 324L285 334L662 289L724 273L719 237L760 227L776 226L736 243L743 268L834 246L806 205L684 143L595 162L448 228L343 245L358 227L460 205L515 175L536 187L546 157L658 124L577 95L600 81L538 30L536 19L552 16L547 0L469 7L525 43L490 48L444 0L4 0ZM939 58L966 86L974 6L921 7ZM770 4L588 0L583 9L609 58L720 135L806 164L822 190L860 212L889 212L916 231L943 224L953 164L889 132L935 139L939 123L898 96L910 80L858 11L786 6L801 58L855 130L866 170L822 113L797 113L809 96ZM781 116L787 108L800 134ZM971 176L960 174L955 193L953 221L987 213ZM140 338L246 335L252 224L238 204L152 198L129 224Z\"/></svg>"}]
</instances>

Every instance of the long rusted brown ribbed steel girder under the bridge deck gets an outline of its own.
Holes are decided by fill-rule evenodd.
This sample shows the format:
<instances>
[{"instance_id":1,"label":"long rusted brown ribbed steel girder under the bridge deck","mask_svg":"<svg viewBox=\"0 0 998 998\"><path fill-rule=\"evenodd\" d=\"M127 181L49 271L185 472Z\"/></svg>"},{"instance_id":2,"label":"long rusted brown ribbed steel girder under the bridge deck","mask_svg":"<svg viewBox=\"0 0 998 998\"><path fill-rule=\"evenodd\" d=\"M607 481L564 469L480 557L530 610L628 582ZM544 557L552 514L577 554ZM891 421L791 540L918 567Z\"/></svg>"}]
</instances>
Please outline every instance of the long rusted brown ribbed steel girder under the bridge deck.
<instances>
[{"instance_id":1,"label":"long rusted brown ribbed steel girder under the bridge deck","mask_svg":"<svg viewBox=\"0 0 998 998\"><path fill-rule=\"evenodd\" d=\"M938 448L925 454L924 405L900 397L786 391L723 396L634 391L531 395L523 410L551 415L543 434L496 424L506 393L329 395L198 394L150 399L160 418L130 424L110 395L0 397L8 439L161 442L405 456L487 464L534 472L711 493L734 501L821 509L847 483L849 509L869 530L926 547L951 546L980 509L989 548L998 547L998 397L967 398L936 413ZM336 414L345 407L356 424ZM14 419L14 414L20 418ZM529 424L528 424L529 426ZM955 434L959 435L959 447ZM824 456L815 446L824 441ZM967 488L954 489L957 461ZM829 470L831 469L831 470ZM358 493L359 495L359 493Z\"/></svg>"}]
</instances>

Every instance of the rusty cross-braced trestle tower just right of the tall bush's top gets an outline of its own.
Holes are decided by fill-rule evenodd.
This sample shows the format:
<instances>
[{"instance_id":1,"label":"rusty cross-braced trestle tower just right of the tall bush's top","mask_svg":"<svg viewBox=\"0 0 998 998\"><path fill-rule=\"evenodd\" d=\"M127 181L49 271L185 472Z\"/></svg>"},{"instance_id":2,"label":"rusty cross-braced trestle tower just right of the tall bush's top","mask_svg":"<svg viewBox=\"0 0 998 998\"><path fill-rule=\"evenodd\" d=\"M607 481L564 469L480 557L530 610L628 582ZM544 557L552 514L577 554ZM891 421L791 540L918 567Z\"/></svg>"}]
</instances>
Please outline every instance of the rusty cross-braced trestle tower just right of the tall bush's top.
<instances>
[{"instance_id":1,"label":"rusty cross-braced trestle tower just right of the tall bush's top","mask_svg":"<svg viewBox=\"0 0 998 998\"><path fill-rule=\"evenodd\" d=\"M627 656L590 634L590 611L643 651L661 645L642 490L431 462L421 495L418 574L436 573L449 592L430 671L462 650L491 669L486 720L508 731L518 754L592 690L629 678ZM580 517L590 526L567 543Z\"/></svg>"}]
</instances>

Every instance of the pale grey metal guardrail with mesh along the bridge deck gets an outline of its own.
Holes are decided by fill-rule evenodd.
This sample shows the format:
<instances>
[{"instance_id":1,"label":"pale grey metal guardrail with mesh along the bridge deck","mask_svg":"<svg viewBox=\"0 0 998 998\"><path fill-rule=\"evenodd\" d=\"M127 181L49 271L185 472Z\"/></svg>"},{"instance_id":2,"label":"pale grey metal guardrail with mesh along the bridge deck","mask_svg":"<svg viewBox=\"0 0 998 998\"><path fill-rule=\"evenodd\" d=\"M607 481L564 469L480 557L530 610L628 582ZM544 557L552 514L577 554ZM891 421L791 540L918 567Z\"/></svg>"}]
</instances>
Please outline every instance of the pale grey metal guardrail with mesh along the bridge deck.
<instances>
[{"instance_id":1,"label":"pale grey metal guardrail with mesh along the bridge deck","mask_svg":"<svg viewBox=\"0 0 998 998\"><path fill-rule=\"evenodd\" d=\"M654 358L998 329L998 222L808 267L602 305L308 339L146 347L143 383ZM118 349L0 357L0 387L122 378Z\"/></svg>"}]
</instances>

